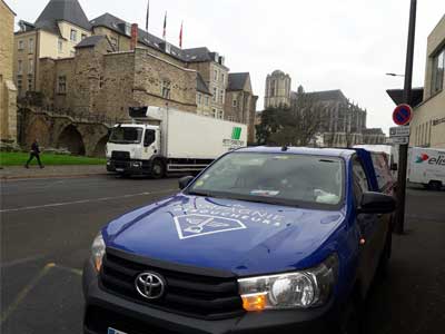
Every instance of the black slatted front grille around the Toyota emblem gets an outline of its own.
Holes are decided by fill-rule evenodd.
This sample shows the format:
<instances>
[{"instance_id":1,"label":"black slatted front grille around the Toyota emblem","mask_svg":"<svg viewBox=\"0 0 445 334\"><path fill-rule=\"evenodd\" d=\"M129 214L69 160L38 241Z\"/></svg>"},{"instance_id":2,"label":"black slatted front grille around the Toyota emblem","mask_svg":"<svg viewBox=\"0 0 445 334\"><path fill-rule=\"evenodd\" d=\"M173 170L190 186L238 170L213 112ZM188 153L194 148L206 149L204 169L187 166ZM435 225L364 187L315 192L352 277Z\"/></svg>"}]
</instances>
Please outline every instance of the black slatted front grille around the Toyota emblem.
<instances>
[{"instance_id":1,"label":"black slatted front grille around the Toyota emblem","mask_svg":"<svg viewBox=\"0 0 445 334\"><path fill-rule=\"evenodd\" d=\"M136 277L155 272L166 281L166 292L159 299L148 301L135 287ZM229 275L206 275L204 269L171 265L128 255L107 248L100 282L102 288L127 299L206 320L239 316L244 313L238 283Z\"/></svg>"}]
</instances>

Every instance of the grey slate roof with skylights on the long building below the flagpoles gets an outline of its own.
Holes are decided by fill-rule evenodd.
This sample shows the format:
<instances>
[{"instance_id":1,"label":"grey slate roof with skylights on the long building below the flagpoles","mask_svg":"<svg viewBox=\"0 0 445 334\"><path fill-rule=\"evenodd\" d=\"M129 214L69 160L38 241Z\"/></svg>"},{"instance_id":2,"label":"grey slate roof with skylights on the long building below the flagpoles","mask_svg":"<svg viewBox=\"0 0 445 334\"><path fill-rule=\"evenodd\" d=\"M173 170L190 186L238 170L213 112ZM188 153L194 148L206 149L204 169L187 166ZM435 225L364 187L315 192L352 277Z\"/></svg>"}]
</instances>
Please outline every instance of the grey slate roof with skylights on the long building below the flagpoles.
<instances>
[{"instance_id":1,"label":"grey slate roof with skylights on the long building below the flagpoles","mask_svg":"<svg viewBox=\"0 0 445 334\"><path fill-rule=\"evenodd\" d=\"M130 23L107 12L92 19L90 24L92 27L107 27L118 33L126 35L125 27ZM165 52L166 41L140 28L138 29L138 41L147 47ZM201 62L215 59L215 52L210 52L207 48L180 49L171 43L169 55L186 62Z\"/></svg>"}]
</instances>

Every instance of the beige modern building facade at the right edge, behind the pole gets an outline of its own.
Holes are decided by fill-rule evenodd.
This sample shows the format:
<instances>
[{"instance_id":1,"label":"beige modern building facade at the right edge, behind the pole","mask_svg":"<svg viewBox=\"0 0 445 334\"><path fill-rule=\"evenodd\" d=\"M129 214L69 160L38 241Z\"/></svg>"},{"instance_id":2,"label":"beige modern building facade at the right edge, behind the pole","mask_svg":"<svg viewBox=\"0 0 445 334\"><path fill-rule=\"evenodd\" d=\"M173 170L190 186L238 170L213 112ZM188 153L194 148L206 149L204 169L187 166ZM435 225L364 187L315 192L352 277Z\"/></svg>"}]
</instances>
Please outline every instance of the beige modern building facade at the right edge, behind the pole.
<instances>
[{"instance_id":1,"label":"beige modern building facade at the right edge, behind the pole","mask_svg":"<svg viewBox=\"0 0 445 334\"><path fill-rule=\"evenodd\" d=\"M427 40L423 101L411 121L411 146L445 148L445 16Z\"/></svg>"}]
</instances>

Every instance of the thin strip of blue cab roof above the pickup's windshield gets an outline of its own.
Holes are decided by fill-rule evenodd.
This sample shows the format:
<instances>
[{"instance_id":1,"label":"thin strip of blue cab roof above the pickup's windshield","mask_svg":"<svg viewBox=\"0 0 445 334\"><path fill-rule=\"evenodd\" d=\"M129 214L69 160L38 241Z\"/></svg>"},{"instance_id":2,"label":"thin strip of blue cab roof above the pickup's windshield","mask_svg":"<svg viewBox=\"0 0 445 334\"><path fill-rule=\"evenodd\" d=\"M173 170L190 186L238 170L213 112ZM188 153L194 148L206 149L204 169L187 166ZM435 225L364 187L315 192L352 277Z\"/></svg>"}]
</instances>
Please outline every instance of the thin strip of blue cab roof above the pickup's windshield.
<instances>
[{"instance_id":1,"label":"thin strip of blue cab roof above the pickup's windshield","mask_svg":"<svg viewBox=\"0 0 445 334\"><path fill-rule=\"evenodd\" d=\"M313 147L291 147L289 146L285 151L283 147L269 146L255 146L240 148L237 151L253 151L253 153L271 153L271 154L295 154L295 155L316 155L329 157L350 157L356 153L356 149L347 148L313 148Z\"/></svg>"}]
</instances>

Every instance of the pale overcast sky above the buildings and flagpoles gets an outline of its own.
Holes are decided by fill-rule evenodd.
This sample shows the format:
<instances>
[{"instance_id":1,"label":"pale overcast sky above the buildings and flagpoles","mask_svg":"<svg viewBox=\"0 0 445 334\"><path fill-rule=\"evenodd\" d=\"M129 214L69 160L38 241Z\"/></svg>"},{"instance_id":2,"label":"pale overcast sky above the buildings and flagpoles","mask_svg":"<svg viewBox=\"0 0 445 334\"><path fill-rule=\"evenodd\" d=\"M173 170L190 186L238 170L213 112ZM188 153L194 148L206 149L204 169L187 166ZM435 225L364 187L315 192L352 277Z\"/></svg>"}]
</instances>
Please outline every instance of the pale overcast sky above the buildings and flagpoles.
<instances>
[{"instance_id":1,"label":"pale overcast sky above the buildings and flagpoles","mask_svg":"<svg viewBox=\"0 0 445 334\"><path fill-rule=\"evenodd\" d=\"M48 0L6 0L18 20L33 22ZM79 0L88 19L110 12L145 27L147 0ZM417 1L414 87L424 85L426 38L445 13L444 0ZM150 0L149 31L184 47L208 47L230 71L249 71L264 104L267 73L289 73L293 89L342 89L368 110L368 127L392 126L388 88L402 88L409 0Z\"/></svg>"}]
</instances>

